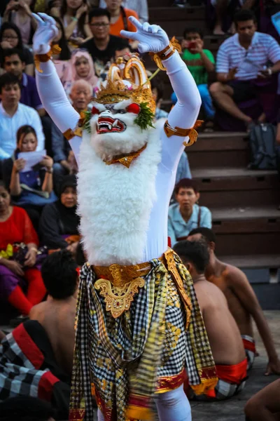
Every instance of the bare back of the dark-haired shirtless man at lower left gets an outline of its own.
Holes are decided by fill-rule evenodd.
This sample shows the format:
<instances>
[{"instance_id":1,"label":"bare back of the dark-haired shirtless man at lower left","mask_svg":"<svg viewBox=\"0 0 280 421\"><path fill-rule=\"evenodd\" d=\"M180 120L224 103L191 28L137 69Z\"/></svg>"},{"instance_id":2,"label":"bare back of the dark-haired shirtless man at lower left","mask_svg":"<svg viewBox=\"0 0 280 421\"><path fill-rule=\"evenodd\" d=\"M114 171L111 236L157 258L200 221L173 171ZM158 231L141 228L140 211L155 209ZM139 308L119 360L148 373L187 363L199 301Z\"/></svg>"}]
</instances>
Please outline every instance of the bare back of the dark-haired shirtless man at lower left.
<instances>
[{"instance_id":1,"label":"bare back of the dark-haired shirtless man at lower left","mask_svg":"<svg viewBox=\"0 0 280 421\"><path fill-rule=\"evenodd\" d=\"M30 319L37 320L48 335L59 367L71 375L75 343L76 298L47 301L31 309Z\"/></svg>"}]
</instances>

